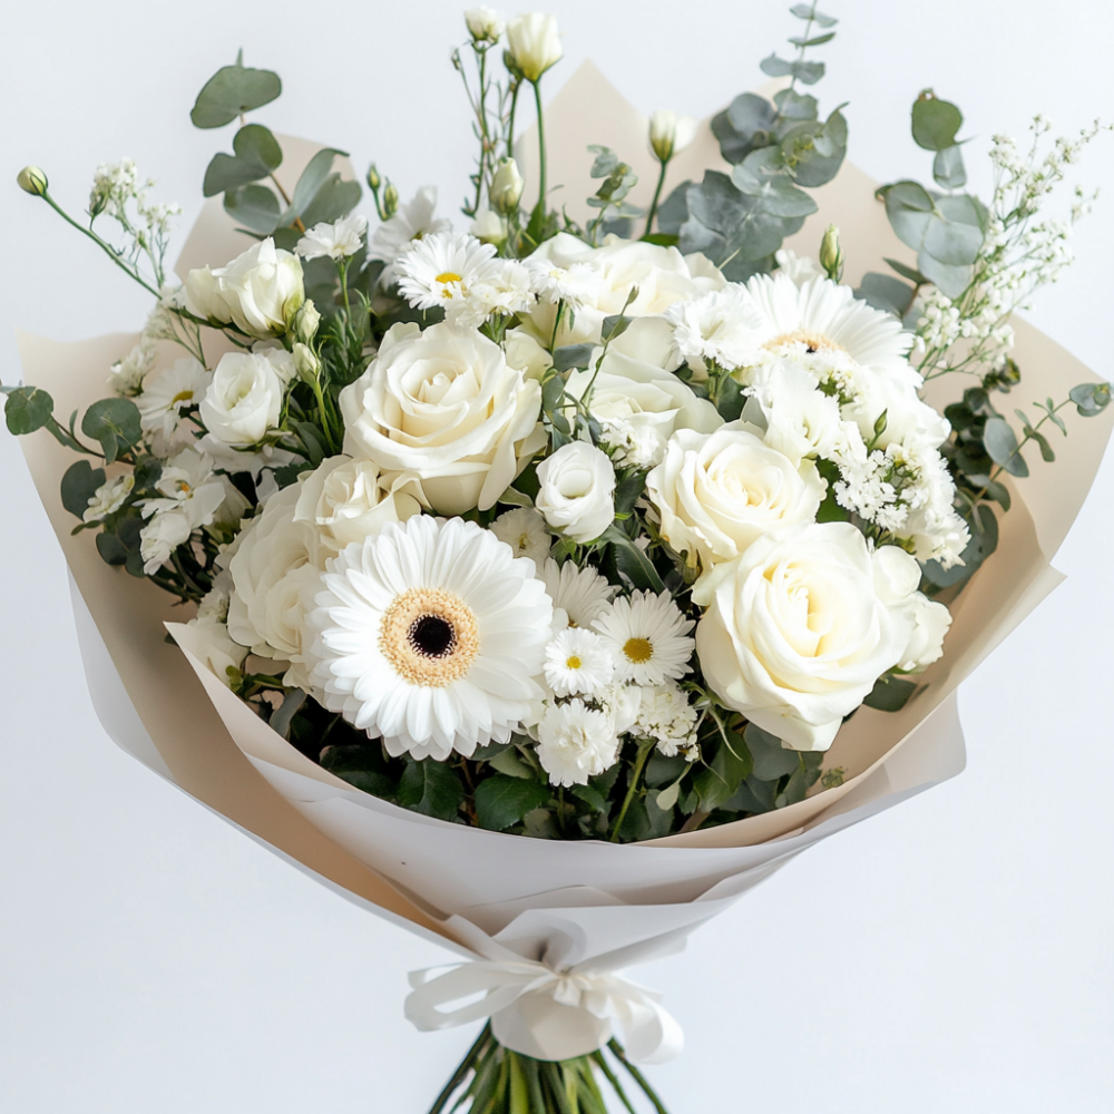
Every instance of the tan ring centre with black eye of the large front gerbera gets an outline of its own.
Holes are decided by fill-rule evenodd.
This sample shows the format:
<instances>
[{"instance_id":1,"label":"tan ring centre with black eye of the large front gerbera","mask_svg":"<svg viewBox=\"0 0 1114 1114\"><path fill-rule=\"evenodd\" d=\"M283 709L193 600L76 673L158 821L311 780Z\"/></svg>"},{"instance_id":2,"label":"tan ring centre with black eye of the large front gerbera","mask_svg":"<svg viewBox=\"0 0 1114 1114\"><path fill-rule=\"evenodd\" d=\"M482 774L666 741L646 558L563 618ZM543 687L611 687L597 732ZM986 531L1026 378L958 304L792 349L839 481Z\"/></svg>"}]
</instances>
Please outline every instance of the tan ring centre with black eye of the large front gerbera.
<instances>
[{"instance_id":1,"label":"tan ring centre with black eye of the large front gerbera","mask_svg":"<svg viewBox=\"0 0 1114 1114\"><path fill-rule=\"evenodd\" d=\"M383 613L379 648L403 681L442 688L458 681L479 653L471 608L441 588L410 588Z\"/></svg>"}]
</instances>

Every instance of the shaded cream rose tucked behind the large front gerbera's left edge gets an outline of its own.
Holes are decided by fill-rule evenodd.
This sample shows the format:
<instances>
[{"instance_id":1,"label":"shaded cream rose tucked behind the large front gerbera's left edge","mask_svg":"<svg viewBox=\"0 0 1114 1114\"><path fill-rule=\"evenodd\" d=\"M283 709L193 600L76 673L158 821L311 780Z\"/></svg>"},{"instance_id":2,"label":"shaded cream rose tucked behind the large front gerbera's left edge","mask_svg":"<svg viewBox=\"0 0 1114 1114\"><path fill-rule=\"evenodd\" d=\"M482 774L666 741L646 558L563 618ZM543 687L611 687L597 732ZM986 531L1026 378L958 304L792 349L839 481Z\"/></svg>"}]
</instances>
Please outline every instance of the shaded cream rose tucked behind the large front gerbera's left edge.
<instances>
[{"instance_id":1,"label":"shaded cream rose tucked behind the large front gerbera's left edge","mask_svg":"<svg viewBox=\"0 0 1114 1114\"><path fill-rule=\"evenodd\" d=\"M305 617L315 606L330 550L321 545L315 526L294 520L302 487L292 483L275 492L221 564L232 574L228 634L253 654L290 662L287 684L305 688Z\"/></svg>"}]
</instances>

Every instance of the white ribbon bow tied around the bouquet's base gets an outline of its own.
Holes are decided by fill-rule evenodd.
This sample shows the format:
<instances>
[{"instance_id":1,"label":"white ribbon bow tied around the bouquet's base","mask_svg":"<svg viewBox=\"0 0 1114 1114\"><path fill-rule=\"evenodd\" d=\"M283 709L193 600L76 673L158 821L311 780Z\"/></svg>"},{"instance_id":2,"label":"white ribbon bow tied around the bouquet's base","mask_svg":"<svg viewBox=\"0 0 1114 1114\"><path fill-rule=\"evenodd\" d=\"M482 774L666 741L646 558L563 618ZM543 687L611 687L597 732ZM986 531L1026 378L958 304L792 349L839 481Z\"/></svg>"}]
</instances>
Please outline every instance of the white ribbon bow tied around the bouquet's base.
<instances>
[{"instance_id":1,"label":"white ribbon bow tied around the bouquet's base","mask_svg":"<svg viewBox=\"0 0 1114 1114\"><path fill-rule=\"evenodd\" d=\"M616 1027L632 1061L659 1064L680 1055L684 1034L658 1005L661 995L590 966L556 970L516 957L411 971L405 1015L422 1032L490 1017L501 1045L535 1059L585 1056L606 1045ZM482 997L467 1000L477 995ZM465 1004L441 1008L453 1003Z\"/></svg>"}]
</instances>

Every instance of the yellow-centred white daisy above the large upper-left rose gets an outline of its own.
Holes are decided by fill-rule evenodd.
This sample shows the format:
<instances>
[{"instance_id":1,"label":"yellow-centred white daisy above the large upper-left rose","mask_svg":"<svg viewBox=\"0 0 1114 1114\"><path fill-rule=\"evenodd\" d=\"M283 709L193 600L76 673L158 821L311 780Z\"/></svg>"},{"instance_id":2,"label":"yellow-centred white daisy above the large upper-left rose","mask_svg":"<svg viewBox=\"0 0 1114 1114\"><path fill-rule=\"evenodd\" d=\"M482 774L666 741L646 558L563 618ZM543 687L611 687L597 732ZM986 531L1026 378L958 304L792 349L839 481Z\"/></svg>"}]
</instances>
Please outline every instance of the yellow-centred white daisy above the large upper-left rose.
<instances>
[{"instance_id":1,"label":"yellow-centred white daisy above the large upper-left rose","mask_svg":"<svg viewBox=\"0 0 1114 1114\"><path fill-rule=\"evenodd\" d=\"M483 301L487 285L499 274L495 248L467 233L439 232L418 241L394 263L399 293L418 310L436 305L455 316L466 310L477 312L469 301ZM481 311L479 311L481 312ZM481 320L482 314L481 312Z\"/></svg>"}]
</instances>

